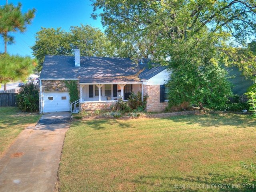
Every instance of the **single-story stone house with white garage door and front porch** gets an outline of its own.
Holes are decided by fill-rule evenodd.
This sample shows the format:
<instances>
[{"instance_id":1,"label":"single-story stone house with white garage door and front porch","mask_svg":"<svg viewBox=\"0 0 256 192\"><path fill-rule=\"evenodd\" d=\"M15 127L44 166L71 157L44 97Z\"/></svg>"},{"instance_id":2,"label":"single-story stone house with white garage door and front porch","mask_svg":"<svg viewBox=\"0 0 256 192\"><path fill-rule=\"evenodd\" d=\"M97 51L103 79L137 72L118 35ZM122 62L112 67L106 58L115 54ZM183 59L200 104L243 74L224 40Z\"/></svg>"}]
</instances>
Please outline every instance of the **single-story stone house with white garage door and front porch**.
<instances>
[{"instance_id":1,"label":"single-story stone house with white garage door and front porch","mask_svg":"<svg viewBox=\"0 0 256 192\"><path fill-rule=\"evenodd\" d=\"M109 109L131 91L148 95L146 111L160 112L167 106L164 84L168 69L149 59L45 56L40 75L40 113L70 111L70 95L63 80L76 80L81 110ZM149 66L152 66L149 68Z\"/></svg>"}]
</instances>

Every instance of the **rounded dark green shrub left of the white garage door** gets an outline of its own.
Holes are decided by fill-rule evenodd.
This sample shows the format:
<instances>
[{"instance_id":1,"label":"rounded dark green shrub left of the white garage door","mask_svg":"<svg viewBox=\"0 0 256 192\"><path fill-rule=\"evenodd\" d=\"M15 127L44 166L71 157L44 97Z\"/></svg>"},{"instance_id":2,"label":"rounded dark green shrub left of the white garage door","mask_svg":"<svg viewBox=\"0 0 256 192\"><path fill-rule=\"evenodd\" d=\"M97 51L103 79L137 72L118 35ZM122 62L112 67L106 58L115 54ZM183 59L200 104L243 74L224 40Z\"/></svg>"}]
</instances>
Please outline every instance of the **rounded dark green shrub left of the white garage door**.
<instances>
[{"instance_id":1,"label":"rounded dark green shrub left of the white garage door","mask_svg":"<svg viewBox=\"0 0 256 192\"><path fill-rule=\"evenodd\" d=\"M24 112L39 111L39 95L37 85L27 83L18 90L16 97L18 108Z\"/></svg>"}]
</instances>

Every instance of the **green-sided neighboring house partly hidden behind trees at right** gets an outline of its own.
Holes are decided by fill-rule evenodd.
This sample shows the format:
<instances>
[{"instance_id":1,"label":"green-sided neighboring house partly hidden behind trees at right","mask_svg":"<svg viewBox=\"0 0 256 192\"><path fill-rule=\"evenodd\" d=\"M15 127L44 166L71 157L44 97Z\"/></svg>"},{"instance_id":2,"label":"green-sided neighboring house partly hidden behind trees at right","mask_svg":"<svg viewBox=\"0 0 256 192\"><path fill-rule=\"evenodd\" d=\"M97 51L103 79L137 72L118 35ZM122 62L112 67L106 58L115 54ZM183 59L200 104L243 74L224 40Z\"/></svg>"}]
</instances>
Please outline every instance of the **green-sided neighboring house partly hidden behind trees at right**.
<instances>
[{"instance_id":1,"label":"green-sided neighboring house partly hidden behind trees at right","mask_svg":"<svg viewBox=\"0 0 256 192\"><path fill-rule=\"evenodd\" d=\"M232 83L232 92L234 94L242 95L247 92L248 88L256 82L256 77L254 80L246 78L242 75L242 72L238 67L228 67L228 75L234 78L229 78L228 80Z\"/></svg>"}]
</instances>

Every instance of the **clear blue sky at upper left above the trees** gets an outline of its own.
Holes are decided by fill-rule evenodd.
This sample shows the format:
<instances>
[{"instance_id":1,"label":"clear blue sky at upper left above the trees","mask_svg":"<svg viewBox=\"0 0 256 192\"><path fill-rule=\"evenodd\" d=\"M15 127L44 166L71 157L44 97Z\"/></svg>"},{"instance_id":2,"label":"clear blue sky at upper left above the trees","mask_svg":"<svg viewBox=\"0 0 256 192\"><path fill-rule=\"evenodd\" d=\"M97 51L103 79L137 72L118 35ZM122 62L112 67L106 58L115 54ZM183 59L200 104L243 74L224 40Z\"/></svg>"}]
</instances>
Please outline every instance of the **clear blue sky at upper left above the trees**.
<instances>
[{"instance_id":1,"label":"clear blue sky at upper left above the trees","mask_svg":"<svg viewBox=\"0 0 256 192\"><path fill-rule=\"evenodd\" d=\"M24 33L14 33L15 44L7 45L7 52L11 55L32 56L30 46L35 44L35 34L44 28L62 28L66 32L70 26L88 24L103 31L100 18L93 20L92 2L89 0L8 0L8 4L22 3L22 12L36 8L36 16L32 24ZM0 5L6 4L6 0L0 0ZM0 53L4 52L4 41L0 38Z\"/></svg>"}]
</instances>

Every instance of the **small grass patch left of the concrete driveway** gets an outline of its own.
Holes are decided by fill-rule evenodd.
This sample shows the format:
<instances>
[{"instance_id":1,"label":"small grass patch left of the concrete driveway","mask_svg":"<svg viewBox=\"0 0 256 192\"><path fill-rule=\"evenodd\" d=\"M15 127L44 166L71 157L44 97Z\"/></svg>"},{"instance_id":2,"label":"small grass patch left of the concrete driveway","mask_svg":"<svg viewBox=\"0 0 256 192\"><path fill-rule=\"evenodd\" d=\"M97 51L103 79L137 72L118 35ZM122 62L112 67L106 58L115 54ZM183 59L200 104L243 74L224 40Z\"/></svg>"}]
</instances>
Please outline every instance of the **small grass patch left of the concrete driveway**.
<instances>
[{"instance_id":1,"label":"small grass patch left of the concrete driveway","mask_svg":"<svg viewBox=\"0 0 256 192\"><path fill-rule=\"evenodd\" d=\"M17 107L0 107L0 155L27 126L35 125L42 115L20 112Z\"/></svg>"}]
</instances>

